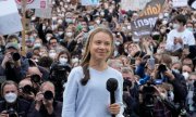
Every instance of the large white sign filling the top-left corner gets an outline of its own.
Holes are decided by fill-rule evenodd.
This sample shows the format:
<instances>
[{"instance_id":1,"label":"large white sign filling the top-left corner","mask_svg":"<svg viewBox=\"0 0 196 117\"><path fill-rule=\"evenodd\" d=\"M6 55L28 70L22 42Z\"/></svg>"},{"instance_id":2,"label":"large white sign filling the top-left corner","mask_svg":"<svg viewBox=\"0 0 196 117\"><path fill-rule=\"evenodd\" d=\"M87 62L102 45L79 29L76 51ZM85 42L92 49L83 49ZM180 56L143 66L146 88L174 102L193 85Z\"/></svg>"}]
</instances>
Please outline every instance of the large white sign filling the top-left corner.
<instances>
[{"instance_id":1,"label":"large white sign filling the top-left corner","mask_svg":"<svg viewBox=\"0 0 196 117\"><path fill-rule=\"evenodd\" d=\"M10 35L23 29L14 0L0 1L0 35Z\"/></svg>"}]
</instances>

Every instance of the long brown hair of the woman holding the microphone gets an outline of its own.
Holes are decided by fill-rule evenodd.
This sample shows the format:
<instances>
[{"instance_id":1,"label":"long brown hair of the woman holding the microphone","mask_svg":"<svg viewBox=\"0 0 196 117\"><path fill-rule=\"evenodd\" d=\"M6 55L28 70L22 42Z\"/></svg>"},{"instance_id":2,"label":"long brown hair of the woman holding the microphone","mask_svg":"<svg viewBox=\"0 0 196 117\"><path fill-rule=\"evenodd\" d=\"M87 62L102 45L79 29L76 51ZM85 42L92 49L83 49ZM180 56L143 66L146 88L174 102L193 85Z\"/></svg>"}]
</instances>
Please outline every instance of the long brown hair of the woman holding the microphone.
<instances>
[{"instance_id":1,"label":"long brown hair of the woman holding the microphone","mask_svg":"<svg viewBox=\"0 0 196 117\"><path fill-rule=\"evenodd\" d=\"M83 84L83 86L86 86L86 83L88 82L88 80L90 79L90 76L89 76L89 69L88 69L88 66L89 66L89 61L90 61L90 49L89 49L89 46L90 46L90 43L91 43L91 40L93 40L93 38L94 38L94 36L96 35L96 34L98 34L98 32L105 32L105 34L108 34L109 36L110 36L110 38L112 39L112 43L111 43L111 47L112 47L112 49L111 49L111 53L110 53L110 55L112 55L112 53L113 53L113 35L112 35L112 32L109 30L109 29L107 29L107 28L103 28L103 27L98 27L98 28L96 28L96 29L94 29L94 30L91 30L90 32L89 32L89 36L88 36L88 38L87 38L87 42L86 42L86 46L85 46L85 53L84 53L84 55L83 55L83 58L82 58L82 63L81 63L81 66L83 67L83 72L84 72L84 78L81 80L81 83ZM108 58L107 58L108 60Z\"/></svg>"}]
</instances>

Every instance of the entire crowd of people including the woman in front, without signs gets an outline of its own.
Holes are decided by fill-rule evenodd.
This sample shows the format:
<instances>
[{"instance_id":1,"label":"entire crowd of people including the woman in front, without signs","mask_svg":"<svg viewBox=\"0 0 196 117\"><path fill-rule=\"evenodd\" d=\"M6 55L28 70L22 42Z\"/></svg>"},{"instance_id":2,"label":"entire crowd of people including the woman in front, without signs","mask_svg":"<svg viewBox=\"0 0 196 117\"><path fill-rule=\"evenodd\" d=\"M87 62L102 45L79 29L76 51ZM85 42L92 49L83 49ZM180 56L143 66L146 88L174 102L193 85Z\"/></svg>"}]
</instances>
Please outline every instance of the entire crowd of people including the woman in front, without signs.
<instances>
[{"instance_id":1,"label":"entire crowd of people including the woman in front, without signs","mask_svg":"<svg viewBox=\"0 0 196 117\"><path fill-rule=\"evenodd\" d=\"M49 20L28 10L26 55L22 32L0 36L0 117L196 117L196 11L167 2L140 39L139 11L120 0L53 0Z\"/></svg>"}]
</instances>

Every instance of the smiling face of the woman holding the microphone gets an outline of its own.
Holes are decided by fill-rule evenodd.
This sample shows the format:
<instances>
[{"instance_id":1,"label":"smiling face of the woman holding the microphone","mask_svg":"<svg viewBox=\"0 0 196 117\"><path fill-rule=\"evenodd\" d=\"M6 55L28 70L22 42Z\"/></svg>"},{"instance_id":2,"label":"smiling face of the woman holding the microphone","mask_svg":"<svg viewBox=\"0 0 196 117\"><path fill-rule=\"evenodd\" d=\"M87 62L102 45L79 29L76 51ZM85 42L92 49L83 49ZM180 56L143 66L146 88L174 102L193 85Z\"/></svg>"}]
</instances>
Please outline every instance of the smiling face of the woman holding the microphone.
<instances>
[{"instance_id":1,"label":"smiling face of the woman holding the microphone","mask_svg":"<svg viewBox=\"0 0 196 117\"><path fill-rule=\"evenodd\" d=\"M112 52L112 39L106 32L96 34L89 46L90 55L95 60L106 61Z\"/></svg>"}]
</instances>

